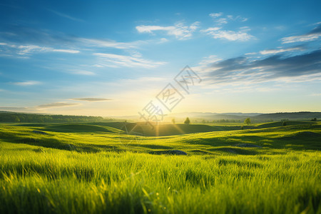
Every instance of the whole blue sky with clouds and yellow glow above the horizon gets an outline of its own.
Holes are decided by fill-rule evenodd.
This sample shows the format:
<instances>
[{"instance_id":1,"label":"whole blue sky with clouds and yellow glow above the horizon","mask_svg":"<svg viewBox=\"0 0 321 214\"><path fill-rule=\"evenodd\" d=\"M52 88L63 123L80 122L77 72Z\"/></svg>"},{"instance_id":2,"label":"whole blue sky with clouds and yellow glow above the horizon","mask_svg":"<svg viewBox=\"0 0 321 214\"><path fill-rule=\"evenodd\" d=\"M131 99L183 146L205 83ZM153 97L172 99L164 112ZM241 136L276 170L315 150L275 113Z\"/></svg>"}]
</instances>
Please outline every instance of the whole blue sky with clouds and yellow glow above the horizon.
<instances>
[{"instance_id":1,"label":"whole blue sky with clouds and yellow glow above the horizon","mask_svg":"<svg viewBox=\"0 0 321 214\"><path fill-rule=\"evenodd\" d=\"M0 111L321 111L320 8L321 1L2 0Z\"/></svg>"}]
</instances>

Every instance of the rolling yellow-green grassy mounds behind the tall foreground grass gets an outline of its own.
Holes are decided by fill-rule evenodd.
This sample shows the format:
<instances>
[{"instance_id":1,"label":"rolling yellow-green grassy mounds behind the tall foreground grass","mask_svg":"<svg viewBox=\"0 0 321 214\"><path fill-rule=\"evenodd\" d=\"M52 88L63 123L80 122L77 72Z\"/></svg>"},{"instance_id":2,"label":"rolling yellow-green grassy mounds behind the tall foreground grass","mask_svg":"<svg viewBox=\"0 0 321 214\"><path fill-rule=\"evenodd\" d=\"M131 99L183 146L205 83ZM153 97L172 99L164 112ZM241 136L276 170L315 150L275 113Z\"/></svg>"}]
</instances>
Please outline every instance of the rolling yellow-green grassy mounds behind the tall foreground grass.
<instances>
[{"instance_id":1,"label":"rolling yellow-green grassy mounds behind the tall foreground grass","mask_svg":"<svg viewBox=\"0 0 321 214\"><path fill-rule=\"evenodd\" d=\"M320 151L321 148L321 123L159 137L126 135L123 131L108 126L78 124L74 130L57 128L61 126L73 125L0 126L0 141L63 150L70 150L70 145L73 145L79 152L135 151L148 153L154 150L180 149L188 154L191 154L189 151L193 153L194 150L220 154L226 152L228 154L257 154L272 153L275 149L277 153L280 153L281 151ZM186 127L195 127L195 131L198 131L198 126L186 125ZM33 133L35 130L48 134ZM263 148L235 147L240 143L252 143Z\"/></svg>"}]
</instances>

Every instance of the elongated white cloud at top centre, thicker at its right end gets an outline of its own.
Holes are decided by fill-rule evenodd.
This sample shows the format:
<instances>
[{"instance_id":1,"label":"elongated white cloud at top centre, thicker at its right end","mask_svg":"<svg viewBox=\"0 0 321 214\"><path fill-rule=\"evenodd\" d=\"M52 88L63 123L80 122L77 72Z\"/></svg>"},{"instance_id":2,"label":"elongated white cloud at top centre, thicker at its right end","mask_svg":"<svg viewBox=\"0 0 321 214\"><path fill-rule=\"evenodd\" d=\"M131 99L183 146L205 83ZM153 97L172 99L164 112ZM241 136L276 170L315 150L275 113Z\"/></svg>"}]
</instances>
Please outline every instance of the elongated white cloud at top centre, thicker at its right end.
<instances>
[{"instance_id":1,"label":"elongated white cloud at top centre, thicker at its right end","mask_svg":"<svg viewBox=\"0 0 321 214\"><path fill-rule=\"evenodd\" d=\"M167 31L170 36L175 36L177 39L190 39L193 32L198 29L200 22L195 21L190 26L185 26L183 23L175 24L175 26L136 26L139 33L153 34L153 31Z\"/></svg>"}]
</instances>

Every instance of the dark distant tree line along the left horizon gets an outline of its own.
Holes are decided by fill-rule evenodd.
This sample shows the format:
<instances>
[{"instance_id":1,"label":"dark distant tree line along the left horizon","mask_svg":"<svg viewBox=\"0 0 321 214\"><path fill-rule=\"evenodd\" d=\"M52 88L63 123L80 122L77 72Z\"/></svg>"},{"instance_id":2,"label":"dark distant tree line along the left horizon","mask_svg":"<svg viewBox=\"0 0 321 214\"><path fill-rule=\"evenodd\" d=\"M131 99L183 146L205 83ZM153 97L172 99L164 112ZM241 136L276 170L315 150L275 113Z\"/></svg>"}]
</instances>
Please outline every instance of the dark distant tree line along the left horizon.
<instances>
[{"instance_id":1,"label":"dark distant tree line along the left horizon","mask_svg":"<svg viewBox=\"0 0 321 214\"><path fill-rule=\"evenodd\" d=\"M114 121L100 116L63 116L29 113L0 113L0 123L73 123Z\"/></svg>"}]
</instances>

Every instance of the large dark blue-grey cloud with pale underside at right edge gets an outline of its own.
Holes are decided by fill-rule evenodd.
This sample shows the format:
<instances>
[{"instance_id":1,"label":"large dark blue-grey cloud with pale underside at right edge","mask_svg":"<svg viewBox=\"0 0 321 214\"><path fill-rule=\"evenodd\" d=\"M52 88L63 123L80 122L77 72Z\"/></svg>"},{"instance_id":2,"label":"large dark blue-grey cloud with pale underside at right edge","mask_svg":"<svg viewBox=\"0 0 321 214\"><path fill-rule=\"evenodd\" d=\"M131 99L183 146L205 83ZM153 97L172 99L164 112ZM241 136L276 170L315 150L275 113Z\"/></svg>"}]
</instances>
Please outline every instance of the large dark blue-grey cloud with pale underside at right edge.
<instances>
[{"instance_id":1,"label":"large dark blue-grey cloud with pale underside at right edge","mask_svg":"<svg viewBox=\"0 0 321 214\"><path fill-rule=\"evenodd\" d=\"M244 56L210 63L205 80L215 84L251 84L266 81L321 81L321 51L287 57L282 54L263 59Z\"/></svg>"}]
</instances>

